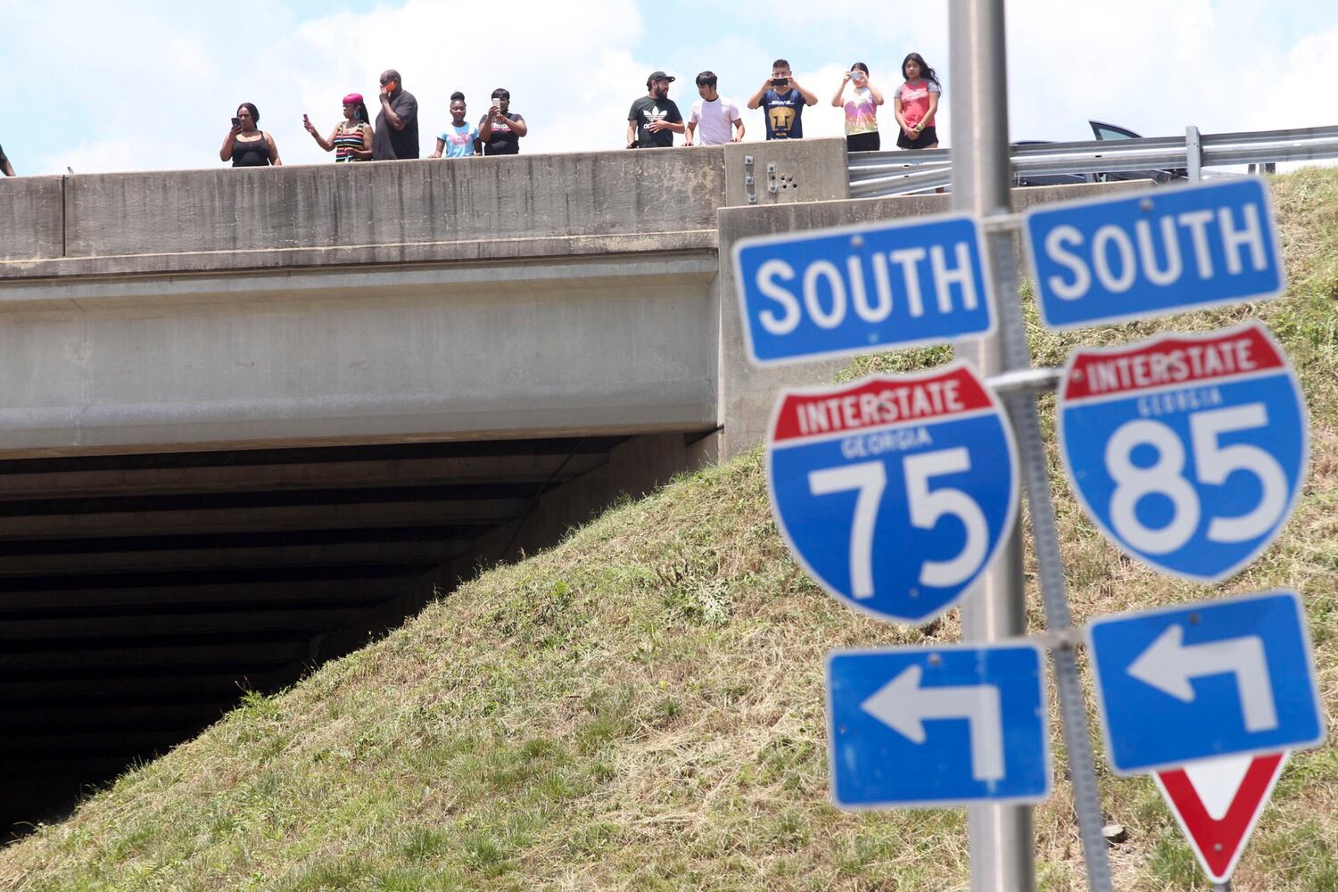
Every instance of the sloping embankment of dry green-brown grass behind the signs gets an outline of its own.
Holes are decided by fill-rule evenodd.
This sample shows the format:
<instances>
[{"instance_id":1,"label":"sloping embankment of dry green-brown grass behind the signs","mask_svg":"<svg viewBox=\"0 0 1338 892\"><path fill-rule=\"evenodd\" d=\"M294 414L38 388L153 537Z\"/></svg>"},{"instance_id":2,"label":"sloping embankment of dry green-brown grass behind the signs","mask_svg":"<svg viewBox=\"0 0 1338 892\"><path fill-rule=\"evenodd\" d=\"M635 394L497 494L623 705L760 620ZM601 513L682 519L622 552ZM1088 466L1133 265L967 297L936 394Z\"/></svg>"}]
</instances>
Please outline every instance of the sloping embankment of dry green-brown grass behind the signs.
<instances>
[{"instance_id":1,"label":"sloping embankment of dry green-brown grass behind the signs","mask_svg":"<svg viewBox=\"0 0 1338 892\"><path fill-rule=\"evenodd\" d=\"M1219 592L1303 592L1338 705L1338 171L1275 181L1290 293L1252 308L1058 336L1076 342L1263 318L1311 408L1305 496ZM872 357L850 374L942 352ZM1061 481L1076 618L1211 596L1108 546ZM1034 588L1034 584L1033 584ZM1040 626L1034 590L1033 626ZM955 641L955 612L930 637ZM926 641L855 615L789 560L753 455L624 504L488 572L387 639L124 776L0 851L0 889L965 889L961 810L828 805L822 657ZM1056 722L1057 726L1057 722ZM1064 782L1036 812L1042 889L1084 888ZM1207 888L1151 780L1104 766L1121 889ZM1238 892L1338 891L1338 746L1299 754Z\"/></svg>"}]
</instances>

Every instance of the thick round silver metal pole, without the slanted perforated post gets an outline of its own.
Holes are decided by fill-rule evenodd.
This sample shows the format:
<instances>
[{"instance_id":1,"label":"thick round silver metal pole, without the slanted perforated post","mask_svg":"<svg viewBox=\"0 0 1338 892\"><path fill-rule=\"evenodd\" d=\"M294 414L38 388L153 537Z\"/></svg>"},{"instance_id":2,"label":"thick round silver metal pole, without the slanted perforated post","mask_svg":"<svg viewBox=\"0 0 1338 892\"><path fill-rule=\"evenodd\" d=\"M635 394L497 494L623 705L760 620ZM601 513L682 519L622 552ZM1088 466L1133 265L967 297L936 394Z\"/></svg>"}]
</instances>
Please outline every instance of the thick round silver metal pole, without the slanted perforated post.
<instances>
[{"instance_id":1,"label":"thick round silver metal pole, without the slanted perforated post","mask_svg":"<svg viewBox=\"0 0 1338 892\"><path fill-rule=\"evenodd\" d=\"M949 74L953 86L953 210L975 217L1009 213L1008 84L1004 68L1004 0L951 0L949 4ZM1012 253L1013 237L1005 239ZM986 245L987 250L991 247ZM989 250L993 255L994 251ZM1006 270L1004 270L1006 271ZM1017 293L1013 281L993 270L1001 300ZM997 312L995 312L997 316ZM963 341L957 354L993 376L1008 366L995 334ZM990 642L1025 631L1022 546L1016 524L994 567L962 607L962 638ZM966 809L974 892L1036 889L1032 809L1026 805L971 805Z\"/></svg>"}]
</instances>

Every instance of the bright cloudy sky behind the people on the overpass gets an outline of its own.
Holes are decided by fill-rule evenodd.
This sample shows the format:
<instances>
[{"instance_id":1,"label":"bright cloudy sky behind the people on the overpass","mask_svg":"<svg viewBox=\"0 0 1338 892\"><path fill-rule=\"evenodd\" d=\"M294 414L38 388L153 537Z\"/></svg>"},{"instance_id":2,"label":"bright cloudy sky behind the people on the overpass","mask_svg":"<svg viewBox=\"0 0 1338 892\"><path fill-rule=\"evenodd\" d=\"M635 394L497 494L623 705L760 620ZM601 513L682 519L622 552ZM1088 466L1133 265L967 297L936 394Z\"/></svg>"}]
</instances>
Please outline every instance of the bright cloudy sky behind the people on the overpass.
<instances>
[{"instance_id":1,"label":"bright cloudy sky behind the people on the overpass","mask_svg":"<svg viewBox=\"0 0 1338 892\"><path fill-rule=\"evenodd\" d=\"M621 148L654 70L678 78L669 96L685 116L693 78L714 71L753 140L761 112L743 106L777 56L819 96L805 135L835 136L842 72L864 62L890 91L917 51L943 82L938 130L951 146L947 5L0 0L0 144L20 175L214 167L238 103L252 102L284 163L330 163L302 114L328 134L356 91L375 115L385 68L419 99L424 155L452 91L476 120L495 87L530 124L524 152ZM1338 120L1334 0L1008 0L1006 28L1012 139L1090 139L1089 118L1149 136ZM890 106L882 130L890 147Z\"/></svg>"}]
</instances>

